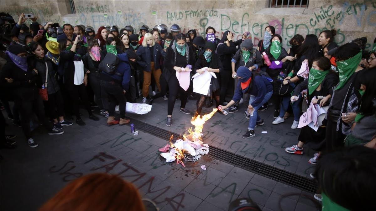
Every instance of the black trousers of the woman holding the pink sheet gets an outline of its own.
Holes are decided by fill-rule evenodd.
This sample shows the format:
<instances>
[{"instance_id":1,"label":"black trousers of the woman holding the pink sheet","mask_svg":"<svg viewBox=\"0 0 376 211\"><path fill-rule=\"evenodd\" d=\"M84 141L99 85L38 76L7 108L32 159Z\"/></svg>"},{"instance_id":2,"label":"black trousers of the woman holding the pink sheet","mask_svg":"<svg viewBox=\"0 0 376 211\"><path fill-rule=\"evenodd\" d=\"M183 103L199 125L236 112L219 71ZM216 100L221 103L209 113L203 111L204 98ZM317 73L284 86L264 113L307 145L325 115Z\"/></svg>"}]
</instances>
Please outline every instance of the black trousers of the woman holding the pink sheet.
<instances>
[{"instance_id":1,"label":"black trousers of the woman holding the pink sheet","mask_svg":"<svg viewBox=\"0 0 376 211\"><path fill-rule=\"evenodd\" d=\"M190 83L192 83L192 81ZM180 107L185 108L185 104L188 99L188 90L185 91L182 87L180 87L179 81L177 80L175 74L173 74L170 81L168 81L168 89L170 90L170 95L168 95L167 115L172 115L177 93L180 93Z\"/></svg>"}]
</instances>

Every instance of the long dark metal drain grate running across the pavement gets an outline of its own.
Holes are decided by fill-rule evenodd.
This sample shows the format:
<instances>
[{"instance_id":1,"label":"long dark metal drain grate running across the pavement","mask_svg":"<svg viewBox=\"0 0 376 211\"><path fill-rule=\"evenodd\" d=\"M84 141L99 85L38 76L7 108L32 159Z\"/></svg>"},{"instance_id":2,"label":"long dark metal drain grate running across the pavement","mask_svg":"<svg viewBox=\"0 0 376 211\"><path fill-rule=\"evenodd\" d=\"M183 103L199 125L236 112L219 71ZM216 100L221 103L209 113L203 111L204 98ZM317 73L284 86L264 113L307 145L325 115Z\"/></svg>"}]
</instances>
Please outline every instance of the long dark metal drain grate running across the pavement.
<instances>
[{"instance_id":1,"label":"long dark metal drain grate running across the pavement","mask_svg":"<svg viewBox=\"0 0 376 211\"><path fill-rule=\"evenodd\" d=\"M177 133L164 130L162 128L147 124L145 122L133 118L129 119L131 119L132 123L136 125L136 128L138 130L152 134L153 136L159 137L161 139L169 140L171 135L173 135L175 139L183 138L181 135ZM274 166L270 166L268 164L264 164L256 160L252 160L214 146L209 147L208 155L217 160L232 164L233 166L240 167L253 173L257 173L259 175L265 176L275 181L279 181L311 193L316 193L317 184L315 184L315 182L312 179L308 179L304 176L300 176L282 169L278 169Z\"/></svg>"}]
</instances>

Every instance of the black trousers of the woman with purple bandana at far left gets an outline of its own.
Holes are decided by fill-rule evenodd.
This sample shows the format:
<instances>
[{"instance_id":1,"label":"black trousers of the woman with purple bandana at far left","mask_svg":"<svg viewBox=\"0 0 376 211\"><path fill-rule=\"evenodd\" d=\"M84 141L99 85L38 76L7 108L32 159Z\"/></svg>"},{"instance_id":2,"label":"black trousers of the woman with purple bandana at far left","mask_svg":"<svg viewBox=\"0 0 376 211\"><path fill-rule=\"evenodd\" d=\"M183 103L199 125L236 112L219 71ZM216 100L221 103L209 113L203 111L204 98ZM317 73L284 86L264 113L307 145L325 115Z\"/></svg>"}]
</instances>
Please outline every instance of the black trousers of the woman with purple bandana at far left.
<instances>
[{"instance_id":1,"label":"black trousers of the woman with purple bandana at far left","mask_svg":"<svg viewBox=\"0 0 376 211\"><path fill-rule=\"evenodd\" d=\"M15 103L17 104L18 108L20 108L21 126L26 136L26 140L32 137L30 131L30 120L32 118L33 113L36 114L39 122L43 124L43 126L48 131L52 130L52 124L45 118L44 105L42 99L40 98L38 93L35 93L33 98L34 99L32 100L15 100Z\"/></svg>"}]
</instances>

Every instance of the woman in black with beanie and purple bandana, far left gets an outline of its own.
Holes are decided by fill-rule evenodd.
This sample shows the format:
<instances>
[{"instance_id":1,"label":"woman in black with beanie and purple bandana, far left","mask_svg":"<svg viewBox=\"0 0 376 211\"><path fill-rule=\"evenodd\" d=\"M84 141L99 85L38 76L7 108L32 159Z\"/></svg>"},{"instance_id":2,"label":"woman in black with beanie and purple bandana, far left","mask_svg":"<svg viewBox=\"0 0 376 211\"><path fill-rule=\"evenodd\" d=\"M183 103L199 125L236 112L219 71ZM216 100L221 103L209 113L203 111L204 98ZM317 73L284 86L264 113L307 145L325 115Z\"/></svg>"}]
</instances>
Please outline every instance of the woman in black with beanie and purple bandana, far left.
<instances>
[{"instance_id":1,"label":"woman in black with beanie and purple bandana, far left","mask_svg":"<svg viewBox=\"0 0 376 211\"><path fill-rule=\"evenodd\" d=\"M33 113L38 116L50 135L63 134L64 131L54 128L45 118L43 102L36 87L38 71L27 67L26 56L26 49L23 46L9 46L6 51L7 62L0 72L0 83L13 91L15 104L20 108L21 125L27 144L35 148L38 144L34 142L30 131L30 119Z\"/></svg>"}]
</instances>

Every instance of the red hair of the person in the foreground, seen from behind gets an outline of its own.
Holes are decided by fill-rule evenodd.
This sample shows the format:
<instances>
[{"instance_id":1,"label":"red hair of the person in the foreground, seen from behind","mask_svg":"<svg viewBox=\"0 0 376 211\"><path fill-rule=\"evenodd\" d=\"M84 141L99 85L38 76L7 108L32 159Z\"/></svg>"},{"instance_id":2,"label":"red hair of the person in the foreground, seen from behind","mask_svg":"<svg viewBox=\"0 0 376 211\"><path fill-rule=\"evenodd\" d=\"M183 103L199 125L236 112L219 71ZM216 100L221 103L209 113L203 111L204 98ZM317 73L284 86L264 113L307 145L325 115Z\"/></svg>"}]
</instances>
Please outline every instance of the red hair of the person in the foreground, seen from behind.
<instances>
[{"instance_id":1,"label":"red hair of the person in the foreground, seen from behind","mask_svg":"<svg viewBox=\"0 0 376 211\"><path fill-rule=\"evenodd\" d=\"M74 180L39 211L145 211L137 188L117 175L93 173Z\"/></svg>"}]
</instances>

